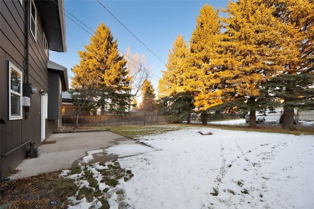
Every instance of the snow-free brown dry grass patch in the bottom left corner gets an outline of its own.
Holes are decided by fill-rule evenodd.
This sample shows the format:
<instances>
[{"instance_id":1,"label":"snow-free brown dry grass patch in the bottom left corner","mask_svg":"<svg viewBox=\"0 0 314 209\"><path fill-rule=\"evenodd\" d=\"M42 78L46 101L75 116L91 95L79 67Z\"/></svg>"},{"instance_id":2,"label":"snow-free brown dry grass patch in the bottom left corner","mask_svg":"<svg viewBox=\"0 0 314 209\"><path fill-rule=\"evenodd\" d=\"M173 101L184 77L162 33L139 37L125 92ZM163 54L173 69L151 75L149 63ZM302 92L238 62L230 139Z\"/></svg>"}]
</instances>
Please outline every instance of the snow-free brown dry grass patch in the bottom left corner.
<instances>
[{"instance_id":1,"label":"snow-free brown dry grass patch in the bottom left corner","mask_svg":"<svg viewBox=\"0 0 314 209\"><path fill-rule=\"evenodd\" d=\"M75 194L74 180L60 178L60 171L0 184L0 204L8 209L67 208L67 197Z\"/></svg>"}]
</instances>

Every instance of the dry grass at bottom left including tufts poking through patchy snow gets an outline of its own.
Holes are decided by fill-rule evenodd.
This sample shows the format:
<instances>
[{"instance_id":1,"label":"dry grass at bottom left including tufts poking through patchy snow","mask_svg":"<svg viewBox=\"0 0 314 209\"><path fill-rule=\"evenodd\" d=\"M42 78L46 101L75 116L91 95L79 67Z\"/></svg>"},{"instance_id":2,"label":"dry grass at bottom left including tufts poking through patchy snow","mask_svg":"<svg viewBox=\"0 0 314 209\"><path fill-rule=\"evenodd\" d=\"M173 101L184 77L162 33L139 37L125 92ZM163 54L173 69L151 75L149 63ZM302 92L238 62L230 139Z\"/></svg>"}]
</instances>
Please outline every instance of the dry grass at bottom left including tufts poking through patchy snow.
<instances>
[{"instance_id":1,"label":"dry grass at bottom left including tufts poking through patchy snow","mask_svg":"<svg viewBox=\"0 0 314 209\"><path fill-rule=\"evenodd\" d=\"M101 164L105 165L105 164ZM0 205L8 204L8 209L65 209L73 203L68 197L76 197L77 200L86 198L87 202L92 202L94 197L102 203L101 209L109 209L107 198L108 188L99 190L99 183L95 180L93 173L84 168L74 167L69 175L79 174L83 171L83 176L79 180L88 182L89 187L75 183L74 179L59 177L61 171L44 173L33 177L15 180L9 183L0 183ZM110 188L114 188L120 179L125 182L132 178L131 170L120 167L118 162L108 165L107 169L101 169L102 183ZM117 195L124 195L124 191L116 191ZM121 205L125 203L119 203Z\"/></svg>"}]
</instances>

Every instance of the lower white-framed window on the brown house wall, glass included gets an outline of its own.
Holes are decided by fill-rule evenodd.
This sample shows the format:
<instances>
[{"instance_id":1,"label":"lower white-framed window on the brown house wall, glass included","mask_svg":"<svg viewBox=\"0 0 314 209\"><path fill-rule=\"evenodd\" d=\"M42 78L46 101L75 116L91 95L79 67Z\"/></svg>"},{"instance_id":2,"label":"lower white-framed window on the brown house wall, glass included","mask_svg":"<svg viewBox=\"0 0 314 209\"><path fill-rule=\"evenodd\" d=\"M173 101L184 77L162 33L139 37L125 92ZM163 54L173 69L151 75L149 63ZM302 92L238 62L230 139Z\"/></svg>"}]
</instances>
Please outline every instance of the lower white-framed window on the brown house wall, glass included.
<instances>
[{"instance_id":1,"label":"lower white-framed window on the brown house wall, glass included","mask_svg":"<svg viewBox=\"0 0 314 209\"><path fill-rule=\"evenodd\" d=\"M23 119L23 72L9 61L9 120Z\"/></svg>"}]
</instances>

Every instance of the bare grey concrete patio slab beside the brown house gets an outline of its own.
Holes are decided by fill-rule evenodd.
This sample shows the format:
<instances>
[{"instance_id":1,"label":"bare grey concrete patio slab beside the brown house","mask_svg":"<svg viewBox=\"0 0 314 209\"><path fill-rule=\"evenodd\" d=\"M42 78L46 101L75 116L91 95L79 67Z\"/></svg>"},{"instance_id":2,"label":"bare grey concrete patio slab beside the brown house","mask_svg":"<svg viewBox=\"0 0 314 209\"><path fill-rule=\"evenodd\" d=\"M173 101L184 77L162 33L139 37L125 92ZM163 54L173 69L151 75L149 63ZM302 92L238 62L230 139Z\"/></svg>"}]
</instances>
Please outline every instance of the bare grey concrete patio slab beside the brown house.
<instances>
[{"instance_id":1,"label":"bare grey concrete patio slab beside the brown house","mask_svg":"<svg viewBox=\"0 0 314 209\"><path fill-rule=\"evenodd\" d=\"M106 149L120 141L134 141L110 131L53 133L40 146L39 155L22 161L16 168L20 172L13 174L10 179L36 176L61 169L71 169L78 165L78 161L87 156L87 151ZM144 146L144 145L143 145ZM117 159L118 156L95 154L93 162L105 162Z\"/></svg>"}]
</instances>

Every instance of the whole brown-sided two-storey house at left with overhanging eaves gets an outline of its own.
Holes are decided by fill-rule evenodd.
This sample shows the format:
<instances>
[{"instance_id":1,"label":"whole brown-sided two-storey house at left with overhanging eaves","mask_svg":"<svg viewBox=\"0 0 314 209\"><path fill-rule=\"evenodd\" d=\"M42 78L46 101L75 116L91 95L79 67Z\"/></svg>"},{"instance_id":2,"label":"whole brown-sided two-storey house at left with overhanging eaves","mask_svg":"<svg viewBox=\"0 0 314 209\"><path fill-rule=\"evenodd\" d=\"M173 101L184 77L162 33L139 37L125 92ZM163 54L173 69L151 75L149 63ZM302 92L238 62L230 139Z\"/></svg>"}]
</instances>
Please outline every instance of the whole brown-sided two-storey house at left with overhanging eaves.
<instances>
[{"instance_id":1,"label":"whole brown-sided two-storey house at left with overhanging eaves","mask_svg":"<svg viewBox=\"0 0 314 209\"><path fill-rule=\"evenodd\" d=\"M49 50L66 52L65 34L63 0L0 1L1 180L60 126L68 74Z\"/></svg>"}]
</instances>

